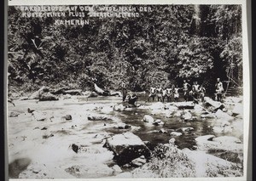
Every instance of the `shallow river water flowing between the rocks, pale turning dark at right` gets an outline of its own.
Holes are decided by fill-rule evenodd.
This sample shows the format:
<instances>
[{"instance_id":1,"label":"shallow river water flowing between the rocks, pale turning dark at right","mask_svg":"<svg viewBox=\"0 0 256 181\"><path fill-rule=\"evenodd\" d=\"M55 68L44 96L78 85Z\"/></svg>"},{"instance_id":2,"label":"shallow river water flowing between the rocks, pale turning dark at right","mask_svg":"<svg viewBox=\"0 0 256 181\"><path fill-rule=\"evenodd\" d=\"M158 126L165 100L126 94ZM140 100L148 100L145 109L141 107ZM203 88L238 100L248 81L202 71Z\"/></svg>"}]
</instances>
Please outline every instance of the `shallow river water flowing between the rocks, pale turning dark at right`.
<instances>
[{"instance_id":1,"label":"shallow river water flowing between the rocks, pale turning dark at right","mask_svg":"<svg viewBox=\"0 0 256 181\"><path fill-rule=\"evenodd\" d=\"M140 96L137 105L143 105L148 107L154 102L145 101L145 97ZM213 134L218 136L234 136L237 139L243 138L241 131L233 132L214 132L212 129L215 126L216 121L214 119L202 119L201 116L195 115L193 111L191 114L196 116L196 121L183 122L180 117L169 117L161 112L154 112L150 109L129 108L123 111L114 111L113 105L122 104L120 97L97 97L84 99L83 97L73 97L72 99L61 99L58 101L40 101L37 100L15 100L15 107L9 105L9 112L15 111L20 113L17 117L9 117L8 119L8 136L9 136L9 171L12 178L18 178L19 174L26 170L28 165L32 164L48 164L52 173L45 175L53 175L54 178L69 178L65 175L63 170L67 167L71 167L74 164L84 164L84 162L93 161L102 162L109 165L109 159L112 154L107 153L102 148L102 142L100 139L95 139L97 135L113 135L118 133L132 132L136 134L143 141L148 141L150 144L149 149L153 150L156 144L168 143L172 138L175 138L177 148L189 148L189 150L195 150L195 138ZM94 108L93 108L94 107ZM102 108L108 107L107 112L102 112ZM37 122L33 120L31 114L27 113L27 108L35 109L36 111L46 111L48 120L44 122ZM96 108L96 109L95 109ZM97 115L110 116L112 121L88 121L87 113L95 113ZM73 116L72 121L63 120L62 116L70 114ZM155 119L160 119L164 122L164 125L154 126L143 122L143 116L150 115ZM131 125L128 129L118 129L114 125L124 122ZM236 122L230 121L230 123ZM104 126L103 126L104 125ZM105 125L107 125L105 127ZM75 126L75 127L74 127ZM44 130L44 127L45 130ZM73 128L72 128L73 127ZM194 130L189 132L183 132L181 136L171 136L170 133L177 131L181 127L193 127ZM160 130L165 130L166 133L160 133ZM180 131L179 131L180 132ZM53 137L47 137L53 134ZM43 136L43 139L42 139ZM102 137L103 138L103 137ZM21 143L21 144L20 144ZM67 150L70 144L86 144L90 147L94 155L86 155L92 153L84 153L80 155L75 154L71 150ZM55 155L52 155L51 151L55 151ZM105 153L106 152L106 153ZM95 154L96 153L96 154ZM106 156L106 159L100 158L99 154L102 154L102 158ZM104 153L104 154L103 154ZM95 158L94 158L95 156ZM21 166L17 163L26 160L26 166ZM23 159L23 160L22 160ZM14 161L14 162L12 162ZM94 164L92 161L91 164ZM106 162L107 161L107 162ZM32 163L31 163L32 162ZM15 164L15 165L14 165ZM97 162L95 162L97 164ZM113 164L110 162L110 164ZM90 164L89 164L90 165ZM61 173L58 167L65 173ZM65 169L64 169L65 168ZM57 170L55 170L57 169ZM91 169L91 168L90 168ZM100 168L99 168L100 169ZM33 171L34 172L34 171ZM34 173L26 173L27 176L23 178L44 178L43 176L34 176ZM56 172L60 172L57 174ZM105 173L104 173L105 174ZM101 178L104 176L102 173L95 173L90 176L76 176L76 178ZM47 178L47 177L46 177Z\"/></svg>"}]
</instances>

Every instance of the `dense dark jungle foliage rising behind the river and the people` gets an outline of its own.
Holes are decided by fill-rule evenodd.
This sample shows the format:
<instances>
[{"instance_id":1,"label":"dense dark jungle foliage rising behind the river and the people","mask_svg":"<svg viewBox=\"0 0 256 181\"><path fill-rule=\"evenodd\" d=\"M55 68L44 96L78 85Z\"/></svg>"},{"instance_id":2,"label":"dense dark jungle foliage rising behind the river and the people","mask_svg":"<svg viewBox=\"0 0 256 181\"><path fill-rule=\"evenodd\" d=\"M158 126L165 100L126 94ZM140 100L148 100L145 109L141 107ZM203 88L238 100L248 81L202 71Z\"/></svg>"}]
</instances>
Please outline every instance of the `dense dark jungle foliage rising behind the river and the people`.
<instances>
[{"instance_id":1,"label":"dense dark jungle foliage rising behind the river and the people","mask_svg":"<svg viewBox=\"0 0 256 181\"><path fill-rule=\"evenodd\" d=\"M148 7L139 17L90 18L84 26L21 17L19 7L9 7L9 91L87 90L92 81L143 91L181 87L183 79L211 90L217 77L242 86L240 5Z\"/></svg>"}]
</instances>

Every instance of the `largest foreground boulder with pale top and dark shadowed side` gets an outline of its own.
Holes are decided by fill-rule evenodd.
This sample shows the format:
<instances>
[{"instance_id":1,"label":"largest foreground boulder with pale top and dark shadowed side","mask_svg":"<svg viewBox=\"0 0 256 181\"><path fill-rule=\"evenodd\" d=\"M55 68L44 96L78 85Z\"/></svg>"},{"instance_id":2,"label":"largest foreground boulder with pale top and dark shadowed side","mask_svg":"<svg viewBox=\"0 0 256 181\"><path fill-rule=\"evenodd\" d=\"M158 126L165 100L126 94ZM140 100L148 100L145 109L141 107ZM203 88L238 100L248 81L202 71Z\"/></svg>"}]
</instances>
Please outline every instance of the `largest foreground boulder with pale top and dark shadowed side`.
<instances>
[{"instance_id":1,"label":"largest foreground boulder with pale top and dark shadowed side","mask_svg":"<svg viewBox=\"0 0 256 181\"><path fill-rule=\"evenodd\" d=\"M124 165L130 161L145 156L150 156L150 150L143 143L143 140L133 133L116 134L112 138L106 139L103 147L112 150L114 157L119 164Z\"/></svg>"}]
</instances>

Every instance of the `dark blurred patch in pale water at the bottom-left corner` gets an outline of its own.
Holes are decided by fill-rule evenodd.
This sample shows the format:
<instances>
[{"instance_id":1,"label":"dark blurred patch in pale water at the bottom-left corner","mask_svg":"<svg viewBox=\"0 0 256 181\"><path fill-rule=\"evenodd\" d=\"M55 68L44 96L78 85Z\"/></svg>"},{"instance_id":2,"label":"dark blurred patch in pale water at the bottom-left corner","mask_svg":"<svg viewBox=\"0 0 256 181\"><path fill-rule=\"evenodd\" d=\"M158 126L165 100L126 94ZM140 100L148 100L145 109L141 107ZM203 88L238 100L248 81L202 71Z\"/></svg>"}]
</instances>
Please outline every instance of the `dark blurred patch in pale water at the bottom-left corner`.
<instances>
[{"instance_id":1,"label":"dark blurred patch in pale water at the bottom-left corner","mask_svg":"<svg viewBox=\"0 0 256 181\"><path fill-rule=\"evenodd\" d=\"M19 174L26 170L30 163L29 158L19 158L9 163L9 178L19 178Z\"/></svg>"}]
</instances>

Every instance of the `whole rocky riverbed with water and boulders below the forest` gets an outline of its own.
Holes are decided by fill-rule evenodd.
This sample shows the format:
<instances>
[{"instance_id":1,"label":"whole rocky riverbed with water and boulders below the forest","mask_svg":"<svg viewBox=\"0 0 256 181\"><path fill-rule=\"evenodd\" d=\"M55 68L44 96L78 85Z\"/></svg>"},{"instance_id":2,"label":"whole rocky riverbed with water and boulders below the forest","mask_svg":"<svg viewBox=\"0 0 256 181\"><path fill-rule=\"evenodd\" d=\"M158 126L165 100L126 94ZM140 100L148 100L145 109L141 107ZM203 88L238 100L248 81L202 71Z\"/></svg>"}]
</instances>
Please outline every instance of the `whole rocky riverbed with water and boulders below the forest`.
<instances>
[{"instance_id":1,"label":"whole rocky riverbed with water and boulders below the forest","mask_svg":"<svg viewBox=\"0 0 256 181\"><path fill-rule=\"evenodd\" d=\"M9 104L9 178L242 175L242 97L199 104L139 99L137 107L122 103L118 93L41 100L17 98L15 106ZM164 145L158 157L155 150ZM165 156L180 156L173 160L179 167L166 162L173 174L154 167ZM183 164L190 169L183 172L191 174L177 174Z\"/></svg>"}]
</instances>

